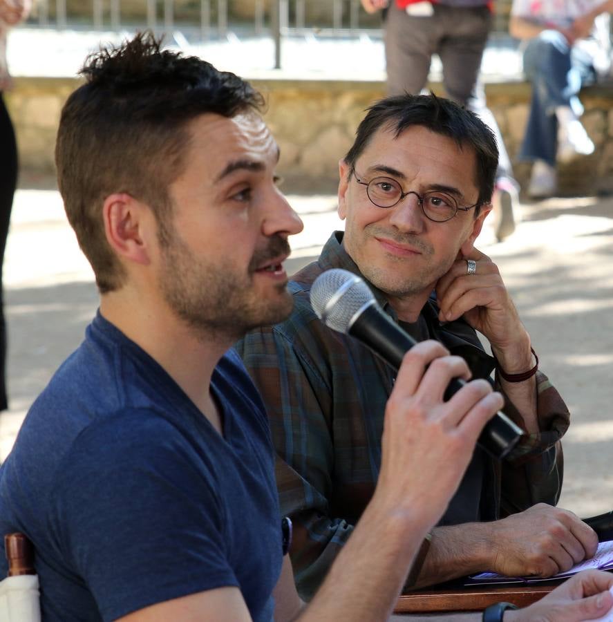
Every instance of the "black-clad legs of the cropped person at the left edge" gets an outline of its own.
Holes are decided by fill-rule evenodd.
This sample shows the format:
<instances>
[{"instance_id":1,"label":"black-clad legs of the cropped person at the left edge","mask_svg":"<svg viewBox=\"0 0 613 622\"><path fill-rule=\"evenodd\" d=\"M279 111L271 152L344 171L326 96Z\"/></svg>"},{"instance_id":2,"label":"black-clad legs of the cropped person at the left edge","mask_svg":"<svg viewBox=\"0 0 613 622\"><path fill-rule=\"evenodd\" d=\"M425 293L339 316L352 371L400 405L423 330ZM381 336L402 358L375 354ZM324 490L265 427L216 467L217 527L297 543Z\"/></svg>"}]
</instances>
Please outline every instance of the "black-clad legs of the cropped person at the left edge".
<instances>
[{"instance_id":1,"label":"black-clad legs of the cropped person at the left edge","mask_svg":"<svg viewBox=\"0 0 613 622\"><path fill-rule=\"evenodd\" d=\"M6 324L2 289L2 265L13 194L17 187L17 143L2 93L0 92L0 411L8 408L6 395Z\"/></svg>"}]
</instances>

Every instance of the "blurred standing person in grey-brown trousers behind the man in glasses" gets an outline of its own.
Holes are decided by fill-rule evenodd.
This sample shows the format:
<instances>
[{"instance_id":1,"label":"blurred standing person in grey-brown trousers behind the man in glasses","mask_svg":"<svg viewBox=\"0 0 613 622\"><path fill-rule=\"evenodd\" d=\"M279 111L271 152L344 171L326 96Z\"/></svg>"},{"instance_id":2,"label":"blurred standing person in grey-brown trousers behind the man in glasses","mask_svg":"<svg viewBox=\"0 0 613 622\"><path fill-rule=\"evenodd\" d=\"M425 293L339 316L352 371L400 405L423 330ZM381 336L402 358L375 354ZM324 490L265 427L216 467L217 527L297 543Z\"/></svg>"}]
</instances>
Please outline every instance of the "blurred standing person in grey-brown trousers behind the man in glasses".
<instances>
[{"instance_id":1,"label":"blurred standing person in grey-brown trousers behind the man in glasses","mask_svg":"<svg viewBox=\"0 0 613 622\"><path fill-rule=\"evenodd\" d=\"M439 55L450 100L479 115L496 136L500 157L492 197L498 241L515 231L518 184L480 83L481 59L492 23L492 0L361 0L368 13L384 10L388 93L417 95Z\"/></svg>"}]
</instances>

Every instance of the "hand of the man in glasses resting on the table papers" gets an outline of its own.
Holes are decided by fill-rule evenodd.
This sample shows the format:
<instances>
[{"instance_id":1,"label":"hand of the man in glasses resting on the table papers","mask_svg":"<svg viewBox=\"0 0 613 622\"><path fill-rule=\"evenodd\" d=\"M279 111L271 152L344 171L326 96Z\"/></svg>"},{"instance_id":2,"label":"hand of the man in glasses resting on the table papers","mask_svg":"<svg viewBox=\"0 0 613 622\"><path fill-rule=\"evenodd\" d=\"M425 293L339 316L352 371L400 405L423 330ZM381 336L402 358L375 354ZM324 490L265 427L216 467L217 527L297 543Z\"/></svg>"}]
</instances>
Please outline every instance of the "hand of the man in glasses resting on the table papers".
<instances>
[{"instance_id":1,"label":"hand of the man in glasses resting on the table papers","mask_svg":"<svg viewBox=\"0 0 613 622\"><path fill-rule=\"evenodd\" d=\"M492 572L548 577L596 553L598 536L574 513L538 503L488 523Z\"/></svg>"}]
</instances>

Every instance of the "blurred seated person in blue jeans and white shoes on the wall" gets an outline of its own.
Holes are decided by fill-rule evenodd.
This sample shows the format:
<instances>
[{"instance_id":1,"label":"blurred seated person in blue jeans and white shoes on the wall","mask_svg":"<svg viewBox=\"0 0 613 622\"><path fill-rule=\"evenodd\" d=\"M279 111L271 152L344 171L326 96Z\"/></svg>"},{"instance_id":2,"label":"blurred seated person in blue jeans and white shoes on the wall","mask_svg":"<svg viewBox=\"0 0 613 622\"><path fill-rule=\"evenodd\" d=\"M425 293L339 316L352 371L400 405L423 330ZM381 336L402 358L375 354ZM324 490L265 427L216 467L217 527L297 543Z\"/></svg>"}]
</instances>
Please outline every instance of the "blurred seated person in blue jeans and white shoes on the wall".
<instances>
[{"instance_id":1,"label":"blurred seated person in blue jeans and white shoes on the wall","mask_svg":"<svg viewBox=\"0 0 613 622\"><path fill-rule=\"evenodd\" d=\"M527 41L524 71L532 82L519 157L534 162L528 187L534 198L555 193L556 162L594 152L577 95L610 71L612 7L611 0L513 0L509 30Z\"/></svg>"}]
</instances>

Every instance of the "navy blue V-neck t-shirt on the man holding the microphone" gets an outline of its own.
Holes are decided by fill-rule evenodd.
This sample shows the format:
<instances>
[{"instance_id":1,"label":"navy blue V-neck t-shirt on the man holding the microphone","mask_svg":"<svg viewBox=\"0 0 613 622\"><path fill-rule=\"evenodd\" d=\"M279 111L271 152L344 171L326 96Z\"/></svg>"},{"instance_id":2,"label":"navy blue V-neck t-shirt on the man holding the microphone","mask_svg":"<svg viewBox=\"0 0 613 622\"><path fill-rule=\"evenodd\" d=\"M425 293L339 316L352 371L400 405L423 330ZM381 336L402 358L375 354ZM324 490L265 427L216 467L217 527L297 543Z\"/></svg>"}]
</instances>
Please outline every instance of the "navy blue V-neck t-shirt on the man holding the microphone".
<instances>
[{"instance_id":1,"label":"navy blue V-neck t-shirt on the man holding the microphone","mask_svg":"<svg viewBox=\"0 0 613 622\"><path fill-rule=\"evenodd\" d=\"M0 534L34 543L44 620L113 620L223 586L272 620L282 545L264 407L232 350L211 387L223 437L120 330L100 314L88 327L0 470Z\"/></svg>"}]
</instances>

